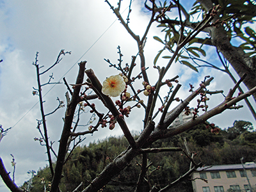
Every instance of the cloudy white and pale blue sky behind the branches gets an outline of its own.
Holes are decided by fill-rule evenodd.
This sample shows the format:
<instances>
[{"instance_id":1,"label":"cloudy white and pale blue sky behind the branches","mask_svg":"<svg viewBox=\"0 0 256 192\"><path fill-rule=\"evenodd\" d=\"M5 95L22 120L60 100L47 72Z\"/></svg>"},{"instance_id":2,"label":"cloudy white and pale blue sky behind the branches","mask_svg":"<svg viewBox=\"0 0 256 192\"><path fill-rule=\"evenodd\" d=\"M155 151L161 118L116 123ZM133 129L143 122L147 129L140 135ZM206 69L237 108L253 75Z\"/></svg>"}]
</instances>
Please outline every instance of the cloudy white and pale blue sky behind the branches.
<instances>
[{"instance_id":1,"label":"cloudy white and pale blue sky behind the branches","mask_svg":"<svg viewBox=\"0 0 256 192\"><path fill-rule=\"evenodd\" d=\"M116 6L117 1L109 1ZM147 27L150 14L143 8L143 2L135 0L132 3L130 24L132 31L136 35L142 36ZM184 3L184 1L181 1ZM122 1L121 11L127 15L129 1ZM191 4L184 3L186 8ZM126 10L125 10L126 9ZM173 12L173 15L175 13ZM173 16L174 18L176 16ZM36 70L32 63L35 61L36 52L38 63L44 66L42 70L50 67L55 61L61 49L72 51L63 57L60 64L52 68L51 72L42 76L42 83L46 83L53 73L52 82L63 82L65 76L68 83L74 84L78 72L77 63L86 60L86 68L92 68L96 76L102 82L106 77L115 75L118 72L114 68L109 68L104 61L109 59L117 63L118 45L121 47L124 63L131 63L131 56L137 54L136 42L125 31L124 27L116 20L115 14L103 0L56 0L56 1L0 1L0 124L4 129L12 127L8 134L4 136L0 143L0 156L8 172L13 172L11 166L12 154L17 162L15 167L15 182L22 185L29 179L29 170L38 170L47 165L45 147L34 141L40 134L36 129L36 120L40 120L40 108L38 97L33 96L33 87L36 88ZM163 36L161 29L153 24L148 33L145 45L145 57L150 76L150 82L156 82L156 70L153 68L153 60L157 51L163 46L153 39L153 36ZM218 63L215 49L207 50L206 60ZM163 54L164 56L164 54ZM140 60L136 60L139 63ZM159 58L157 65L164 66L168 60ZM226 74L220 73L211 68L200 68L199 73L194 72L186 66L174 63L172 70L166 74L166 79L170 79L177 74L182 84L178 96L185 99L189 95L189 83L196 87L204 76L211 75L214 81L209 86L211 90L223 90L224 94L234 85ZM134 76L140 68L134 70ZM237 77L237 76L236 76ZM85 79L84 79L85 80ZM140 82L141 83L141 82ZM141 88L141 84L136 86ZM57 97L65 101L67 88L64 84L49 84L44 86L44 109L45 113L50 113L58 106ZM146 98L145 98L146 99ZM209 101L209 108L213 108L223 101L223 95L212 95ZM252 98L250 98L253 103ZM96 108L104 111L100 102L95 101ZM221 115L211 118L209 122L225 129L232 127L235 120L246 120L255 124L253 116L246 108L244 102L243 109L236 111L225 111ZM196 102L189 104L196 106ZM255 104L253 104L255 106ZM103 112L102 112L103 113ZM104 112L106 113L106 112ZM140 132L143 129L143 122L138 116L140 109L132 111L127 124L131 131ZM48 134L51 141L55 141L54 150L58 150L58 140L60 140L61 129L63 127L62 117L65 115L65 108L61 108L54 115L47 116ZM90 113L86 111L82 122L86 124ZM79 127L82 131L86 127ZM102 140L107 136L122 135L119 127L110 131L108 128L99 129L93 135L86 136L82 145ZM0 191L9 191L0 180Z\"/></svg>"}]
</instances>

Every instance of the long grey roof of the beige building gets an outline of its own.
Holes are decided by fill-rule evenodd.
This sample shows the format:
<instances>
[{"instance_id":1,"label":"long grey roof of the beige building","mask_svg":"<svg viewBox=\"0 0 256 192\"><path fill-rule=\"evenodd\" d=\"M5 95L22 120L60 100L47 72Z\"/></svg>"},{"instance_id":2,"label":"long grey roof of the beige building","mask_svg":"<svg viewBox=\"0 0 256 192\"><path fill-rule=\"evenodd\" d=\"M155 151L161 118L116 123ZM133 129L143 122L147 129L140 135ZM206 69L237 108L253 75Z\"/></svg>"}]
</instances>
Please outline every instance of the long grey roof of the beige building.
<instances>
[{"instance_id":1,"label":"long grey roof of the beige building","mask_svg":"<svg viewBox=\"0 0 256 192\"><path fill-rule=\"evenodd\" d=\"M256 168L256 164L251 162L251 163L244 163L244 168L245 169L253 169ZM209 167L209 168L207 168ZM204 170L205 172L209 171L217 171L217 170L243 170L242 164L220 164L220 165L212 165L212 166L204 166L202 168L198 168L197 171L202 171Z\"/></svg>"}]
</instances>

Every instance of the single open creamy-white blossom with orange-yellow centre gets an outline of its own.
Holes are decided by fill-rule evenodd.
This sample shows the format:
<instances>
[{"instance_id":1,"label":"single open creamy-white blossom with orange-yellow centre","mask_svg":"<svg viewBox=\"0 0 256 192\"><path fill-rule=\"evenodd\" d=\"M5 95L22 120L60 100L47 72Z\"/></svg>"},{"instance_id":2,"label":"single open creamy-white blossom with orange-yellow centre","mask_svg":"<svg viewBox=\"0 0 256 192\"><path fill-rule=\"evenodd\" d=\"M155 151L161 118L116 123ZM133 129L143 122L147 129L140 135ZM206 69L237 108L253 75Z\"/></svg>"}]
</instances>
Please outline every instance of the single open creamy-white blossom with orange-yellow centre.
<instances>
[{"instance_id":1,"label":"single open creamy-white blossom with orange-yellow centre","mask_svg":"<svg viewBox=\"0 0 256 192\"><path fill-rule=\"evenodd\" d=\"M124 78L120 75L110 76L102 84L102 93L109 97L118 97L125 90Z\"/></svg>"}]
</instances>

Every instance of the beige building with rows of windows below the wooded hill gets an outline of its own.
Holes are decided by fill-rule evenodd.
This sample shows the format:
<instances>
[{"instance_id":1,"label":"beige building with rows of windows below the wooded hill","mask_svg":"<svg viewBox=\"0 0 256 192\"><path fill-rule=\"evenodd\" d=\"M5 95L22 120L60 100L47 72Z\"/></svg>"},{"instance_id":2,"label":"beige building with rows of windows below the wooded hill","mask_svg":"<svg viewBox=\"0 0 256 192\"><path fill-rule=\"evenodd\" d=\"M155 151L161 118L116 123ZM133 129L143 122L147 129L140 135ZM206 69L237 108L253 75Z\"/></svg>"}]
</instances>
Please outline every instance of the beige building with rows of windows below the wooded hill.
<instances>
[{"instance_id":1,"label":"beige building with rows of windows below the wooded hill","mask_svg":"<svg viewBox=\"0 0 256 192\"><path fill-rule=\"evenodd\" d=\"M223 164L207 167L198 168L197 172L191 175L194 192L243 192L250 191L250 186L252 192L256 191L255 163ZM207 182L204 180L207 180Z\"/></svg>"}]
</instances>

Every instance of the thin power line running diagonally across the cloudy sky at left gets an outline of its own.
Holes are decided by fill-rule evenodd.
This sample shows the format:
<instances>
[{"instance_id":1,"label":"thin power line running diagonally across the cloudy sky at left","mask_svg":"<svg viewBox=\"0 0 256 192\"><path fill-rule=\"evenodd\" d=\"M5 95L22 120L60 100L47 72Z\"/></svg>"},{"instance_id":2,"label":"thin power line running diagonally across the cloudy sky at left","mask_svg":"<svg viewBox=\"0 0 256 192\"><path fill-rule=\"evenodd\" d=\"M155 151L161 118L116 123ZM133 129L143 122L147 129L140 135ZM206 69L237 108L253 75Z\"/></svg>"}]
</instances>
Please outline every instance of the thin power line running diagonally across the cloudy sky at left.
<instances>
[{"instance_id":1,"label":"thin power line running diagonally across the cloudy sky at left","mask_svg":"<svg viewBox=\"0 0 256 192\"><path fill-rule=\"evenodd\" d=\"M134 1L135 1L135 0L134 0ZM134 1L132 1L132 3L133 3ZM131 5L130 5L130 6L131 6ZM128 7L129 7L129 6L127 6L127 8L128 8ZM125 10L127 10L127 8L125 8ZM125 12L125 10L124 10L124 12ZM122 12L122 13L124 13L124 12ZM67 70L67 72L65 72L65 74L59 79L58 82L60 82L61 79L63 79L63 77L65 77L65 75L67 75L68 72L70 72L70 70L81 60L81 58L83 58L83 56L84 56L88 51L90 51L90 49L92 49L92 47L100 40L100 38L102 38L102 36L108 31L108 29L111 28L111 26L113 26L113 24L116 22L116 20L118 20L118 19L115 19L115 20L110 24L110 26L102 33L102 35L99 36L99 38L97 38L97 40L91 45L91 47L89 47L89 48L87 49L87 51L84 52L84 54L74 63L74 65L72 65L72 67L70 67L70 68ZM48 90L48 92L45 93L45 95L47 95L49 92L51 92L51 90L52 90L55 86L56 86L56 84L54 84L54 85ZM43 98L45 97L45 95L43 96ZM38 102L39 102L39 101L38 101ZM28 115L28 113L29 113L33 108L35 108L35 106L38 104L38 102L36 102L36 104L34 104L34 105L28 110L28 112L25 113L25 114L12 126L12 128L15 127L15 125L19 124L19 122L20 122L26 115Z\"/></svg>"}]
</instances>

